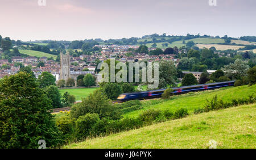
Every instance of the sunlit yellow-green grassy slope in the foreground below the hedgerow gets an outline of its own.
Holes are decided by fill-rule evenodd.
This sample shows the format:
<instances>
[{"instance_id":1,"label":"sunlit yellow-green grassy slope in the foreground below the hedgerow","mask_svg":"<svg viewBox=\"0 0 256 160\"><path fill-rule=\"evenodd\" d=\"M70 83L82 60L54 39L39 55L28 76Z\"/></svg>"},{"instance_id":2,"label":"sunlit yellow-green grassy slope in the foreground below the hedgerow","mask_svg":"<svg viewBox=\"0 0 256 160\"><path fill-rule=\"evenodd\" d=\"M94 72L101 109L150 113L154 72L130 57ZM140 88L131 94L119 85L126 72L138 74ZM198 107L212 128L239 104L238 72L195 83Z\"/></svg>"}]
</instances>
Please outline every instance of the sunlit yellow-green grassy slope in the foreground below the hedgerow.
<instances>
[{"instance_id":1,"label":"sunlit yellow-green grassy slope in the foreground below the hedgerow","mask_svg":"<svg viewBox=\"0 0 256 160\"><path fill-rule=\"evenodd\" d=\"M64 148L217 148L255 149L256 104L191 115L141 129L98 137Z\"/></svg>"}]
</instances>

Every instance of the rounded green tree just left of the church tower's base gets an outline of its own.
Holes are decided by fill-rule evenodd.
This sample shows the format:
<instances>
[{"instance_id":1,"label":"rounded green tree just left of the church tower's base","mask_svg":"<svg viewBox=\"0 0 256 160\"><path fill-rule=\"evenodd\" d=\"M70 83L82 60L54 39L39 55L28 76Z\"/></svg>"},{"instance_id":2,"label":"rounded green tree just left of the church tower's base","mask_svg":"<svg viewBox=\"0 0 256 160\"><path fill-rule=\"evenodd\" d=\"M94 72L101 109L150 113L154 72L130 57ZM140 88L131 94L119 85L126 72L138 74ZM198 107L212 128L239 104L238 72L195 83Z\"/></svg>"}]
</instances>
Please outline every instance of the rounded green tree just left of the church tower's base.
<instances>
[{"instance_id":1,"label":"rounded green tree just left of the church tower's base","mask_svg":"<svg viewBox=\"0 0 256 160\"><path fill-rule=\"evenodd\" d=\"M55 86L55 81L56 81L56 78L47 71L44 71L42 74L38 76L38 82L39 82L40 88L51 86L51 85Z\"/></svg>"}]
</instances>

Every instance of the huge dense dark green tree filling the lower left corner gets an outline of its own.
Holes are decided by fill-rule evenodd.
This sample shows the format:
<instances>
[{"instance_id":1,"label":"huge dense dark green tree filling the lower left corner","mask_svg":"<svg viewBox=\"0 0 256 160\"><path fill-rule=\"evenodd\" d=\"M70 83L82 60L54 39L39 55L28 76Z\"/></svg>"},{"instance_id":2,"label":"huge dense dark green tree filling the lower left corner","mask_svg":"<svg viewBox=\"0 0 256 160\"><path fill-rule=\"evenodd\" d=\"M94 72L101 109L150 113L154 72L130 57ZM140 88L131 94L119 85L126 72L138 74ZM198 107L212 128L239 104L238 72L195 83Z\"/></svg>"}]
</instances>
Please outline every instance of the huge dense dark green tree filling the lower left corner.
<instances>
[{"instance_id":1,"label":"huge dense dark green tree filling the lower left corner","mask_svg":"<svg viewBox=\"0 0 256 160\"><path fill-rule=\"evenodd\" d=\"M0 83L0 148L38 148L45 140L47 147L63 142L55 126L47 95L31 74L19 72Z\"/></svg>"}]
</instances>

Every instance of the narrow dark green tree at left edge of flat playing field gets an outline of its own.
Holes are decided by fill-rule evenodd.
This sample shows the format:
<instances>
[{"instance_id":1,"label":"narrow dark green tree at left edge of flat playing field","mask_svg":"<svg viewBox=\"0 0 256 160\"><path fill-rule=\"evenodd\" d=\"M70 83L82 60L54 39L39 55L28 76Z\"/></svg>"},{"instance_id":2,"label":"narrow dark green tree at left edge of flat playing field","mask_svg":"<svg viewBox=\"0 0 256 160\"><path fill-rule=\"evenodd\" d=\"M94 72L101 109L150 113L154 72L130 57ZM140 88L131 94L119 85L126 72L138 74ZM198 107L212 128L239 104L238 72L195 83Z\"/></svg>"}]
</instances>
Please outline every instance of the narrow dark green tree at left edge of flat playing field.
<instances>
[{"instance_id":1,"label":"narrow dark green tree at left edge of flat playing field","mask_svg":"<svg viewBox=\"0 0 256 160\"><path fill-rule=\"evenodd\" d=\"M44 89L46 91L47 97L52 101L53 108L61 108L61 94L56 86L48 86Z\"/></svg>"}]
</instances>

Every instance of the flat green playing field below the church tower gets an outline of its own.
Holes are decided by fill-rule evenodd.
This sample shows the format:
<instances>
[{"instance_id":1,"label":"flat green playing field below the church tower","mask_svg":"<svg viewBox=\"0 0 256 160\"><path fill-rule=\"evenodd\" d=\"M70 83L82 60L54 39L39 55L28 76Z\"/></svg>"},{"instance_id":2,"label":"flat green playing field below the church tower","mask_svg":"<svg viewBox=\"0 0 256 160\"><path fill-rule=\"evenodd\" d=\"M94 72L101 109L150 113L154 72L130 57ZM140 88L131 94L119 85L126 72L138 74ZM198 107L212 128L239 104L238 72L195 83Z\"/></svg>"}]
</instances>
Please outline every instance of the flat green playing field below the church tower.
<instances>
[{"instance_id":1,"label":"flat green playing field below the church tower","mask_svg":"<svg viewBox=\"0 0 256 160\"><path fill-rule=\"evenodd\" d=\"M90 93L95 91L97 88L85 88L85 89L60 89L60 94L63 95L64 92L69 92L71 95L75 95L76 100L82 100Z\"/></svg>"}]
</instances>

